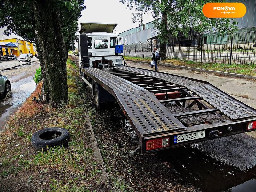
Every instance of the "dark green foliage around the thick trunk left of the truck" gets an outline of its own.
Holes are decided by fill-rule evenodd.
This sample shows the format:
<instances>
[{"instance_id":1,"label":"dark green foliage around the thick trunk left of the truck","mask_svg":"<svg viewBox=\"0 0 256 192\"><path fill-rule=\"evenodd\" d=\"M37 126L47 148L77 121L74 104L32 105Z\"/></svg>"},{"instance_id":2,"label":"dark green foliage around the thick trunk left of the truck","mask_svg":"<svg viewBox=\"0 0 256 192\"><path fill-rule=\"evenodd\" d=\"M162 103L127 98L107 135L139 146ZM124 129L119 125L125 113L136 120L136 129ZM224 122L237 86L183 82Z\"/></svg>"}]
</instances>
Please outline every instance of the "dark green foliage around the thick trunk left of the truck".
<instances>
[{"instance_id":1,"label":"dark green foliage around the thick trunk left of the truck","mask_svg":"<svg viewBox=\"0 0 256 192\"><path fill-rule=\"evenodd\" d=\"M60 10L61 29L66 49L68 50L69 43L76 39L77 20L81 16L81 11L86 7L84 0L46 0L45 3L51 4L52 11L55 9ZM36 40L34 4L37 4L37 1L0 0L0 26L6 26L4 34L19 35L25 40L34 43ZM12 8L10 9L10 7ZM68 11L71 10L70 7L73 9L72 11Z\"/></svg>"}]
</instances>

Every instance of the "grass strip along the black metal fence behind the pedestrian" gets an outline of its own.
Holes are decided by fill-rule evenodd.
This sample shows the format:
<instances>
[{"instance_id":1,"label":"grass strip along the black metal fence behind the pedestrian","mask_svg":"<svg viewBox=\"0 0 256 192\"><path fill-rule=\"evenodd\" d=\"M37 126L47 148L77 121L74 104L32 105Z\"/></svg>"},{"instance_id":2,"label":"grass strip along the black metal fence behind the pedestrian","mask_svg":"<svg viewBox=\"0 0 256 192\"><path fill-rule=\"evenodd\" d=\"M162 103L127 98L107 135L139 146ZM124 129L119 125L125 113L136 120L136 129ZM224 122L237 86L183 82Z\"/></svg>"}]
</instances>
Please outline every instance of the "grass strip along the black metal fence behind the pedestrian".
<instances>
[{"instance_id":1,"label":"grass strip along the black metal fence behind the pedestrian","mask_svg":"<svg viewBox=\"0 0 256 192\"><path fill-rule=\"evenodd\" d=\"M144 61L143 58L124 57L127 60ZM148 61L148 60L146 60ZM228 65L224 63L199 63L193 61L181 61L178 58L163 60L164 63L171 63L172 65L186 66L192 68L201 68L214 71L222 71L228 73L237 73L242 75L256 76L256 66L247 65Z\"/></svg>"}]
</instances>

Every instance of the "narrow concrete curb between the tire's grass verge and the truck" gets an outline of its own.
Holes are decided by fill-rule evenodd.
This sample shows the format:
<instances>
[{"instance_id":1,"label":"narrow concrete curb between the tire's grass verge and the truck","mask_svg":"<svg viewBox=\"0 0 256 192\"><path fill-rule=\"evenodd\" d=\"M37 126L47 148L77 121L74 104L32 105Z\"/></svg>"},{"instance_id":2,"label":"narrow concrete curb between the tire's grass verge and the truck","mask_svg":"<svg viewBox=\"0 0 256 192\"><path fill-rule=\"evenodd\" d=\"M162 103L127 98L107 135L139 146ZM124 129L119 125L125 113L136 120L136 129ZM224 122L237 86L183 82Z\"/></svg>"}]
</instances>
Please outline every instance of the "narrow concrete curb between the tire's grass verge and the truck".
<instances>
[{"instance_id":1,"label":"narrow concrete curb between the tire's grass verge and the truck","mask_svg":"<svg viewBox=\"0 0 256 192\"><path fill-rule=\"evenodd\" d=\"M108 173L106 171L106 166L105 166L104 161L102 159L102 156L101 156L101 153L100 153L100 148L99 148L97 140L95 138L95 135L94 135L94 132L93 132L93 129L92 129L91 120L90 120L89 116L86 115L85 121L86 121L86 124L89 126L87 128L87 130L89 131L89 134L90 134L89 138L91 139L91 142L92 142L92 150L93 150L93 153L94 153L94 157L96 159L96 162L102 166L102 169L101 169L102 177L103 177L104 183L109 187Z\"/></svg>"}]
</instances>

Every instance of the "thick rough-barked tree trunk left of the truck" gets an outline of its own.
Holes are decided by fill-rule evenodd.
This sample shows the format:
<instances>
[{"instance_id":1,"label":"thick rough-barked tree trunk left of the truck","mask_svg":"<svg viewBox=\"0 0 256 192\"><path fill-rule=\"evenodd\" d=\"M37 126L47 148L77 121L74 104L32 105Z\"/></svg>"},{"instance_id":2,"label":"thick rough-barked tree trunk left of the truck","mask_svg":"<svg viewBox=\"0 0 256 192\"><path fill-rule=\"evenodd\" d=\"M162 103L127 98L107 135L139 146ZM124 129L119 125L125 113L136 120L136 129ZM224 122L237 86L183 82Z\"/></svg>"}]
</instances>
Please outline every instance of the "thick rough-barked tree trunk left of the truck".
<instances>
[{"instance_id":1,"label":"thick rough-barked tree trunk left of the truck","mask_svg":"<svg viewBox=\"0 0 256 192\"><path fill-rule=\"evenodd\" d=\"M39 98L52 107L68 101L65 47L60 25L60 12L45 0L34 1L36 48L40 61L43 86Z\"/></svg>"}]
</instances>

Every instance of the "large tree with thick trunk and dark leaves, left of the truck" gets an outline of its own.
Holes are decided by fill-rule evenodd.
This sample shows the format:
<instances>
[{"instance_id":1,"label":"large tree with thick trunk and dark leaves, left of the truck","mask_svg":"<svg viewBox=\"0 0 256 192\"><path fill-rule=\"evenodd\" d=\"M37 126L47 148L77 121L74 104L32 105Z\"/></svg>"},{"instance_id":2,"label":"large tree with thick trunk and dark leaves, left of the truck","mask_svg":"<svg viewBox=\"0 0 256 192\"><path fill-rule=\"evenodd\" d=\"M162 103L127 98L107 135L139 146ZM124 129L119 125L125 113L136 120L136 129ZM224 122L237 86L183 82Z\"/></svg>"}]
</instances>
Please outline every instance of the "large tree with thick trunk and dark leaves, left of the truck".
<instances>
[{"instance_id":1,"label":"large tree with thick trunk and dark leaves, left of the truck","mask_svg":"<svg viewBox=\"0 0 256 192\"><path fill-rule=\"evenodd\" d=\"M39 100L53 107L68 101L67 51L83 4L84 0L0 0L0 26L6 26L5 34L36 43L43 77Z\"/></svg>"}]
</instances>

